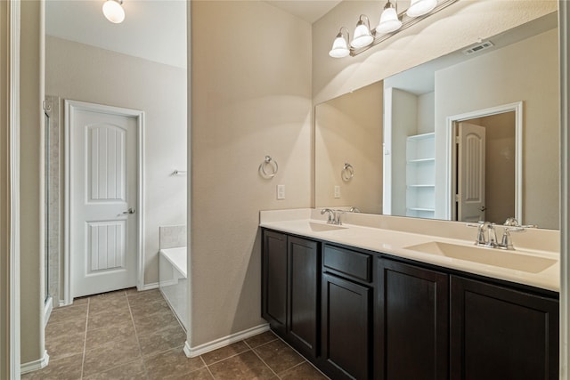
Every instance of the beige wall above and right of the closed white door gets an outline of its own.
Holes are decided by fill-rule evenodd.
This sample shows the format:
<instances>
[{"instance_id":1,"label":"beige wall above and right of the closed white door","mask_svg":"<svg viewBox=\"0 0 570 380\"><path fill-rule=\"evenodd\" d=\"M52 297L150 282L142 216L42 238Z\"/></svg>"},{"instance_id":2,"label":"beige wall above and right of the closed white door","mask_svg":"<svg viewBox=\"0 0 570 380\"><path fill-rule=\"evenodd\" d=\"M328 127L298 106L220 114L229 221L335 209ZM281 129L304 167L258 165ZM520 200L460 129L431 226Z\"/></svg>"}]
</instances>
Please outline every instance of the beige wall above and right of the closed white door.
<instances>
[{"instance_id":1,"label":"beige wall above and right of the closed white door","mask_svg":"<svg viewBox=\"0 0 570 380\"><path fill-rule=\"evenodd\" d=\"M144 282L157 283L159 226L186 222L186 177L171 175L186 170L186 69L54 36L45 68L49 95L144 111Z\"/></svg>"}]
</instances>

